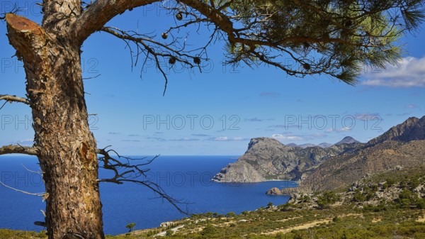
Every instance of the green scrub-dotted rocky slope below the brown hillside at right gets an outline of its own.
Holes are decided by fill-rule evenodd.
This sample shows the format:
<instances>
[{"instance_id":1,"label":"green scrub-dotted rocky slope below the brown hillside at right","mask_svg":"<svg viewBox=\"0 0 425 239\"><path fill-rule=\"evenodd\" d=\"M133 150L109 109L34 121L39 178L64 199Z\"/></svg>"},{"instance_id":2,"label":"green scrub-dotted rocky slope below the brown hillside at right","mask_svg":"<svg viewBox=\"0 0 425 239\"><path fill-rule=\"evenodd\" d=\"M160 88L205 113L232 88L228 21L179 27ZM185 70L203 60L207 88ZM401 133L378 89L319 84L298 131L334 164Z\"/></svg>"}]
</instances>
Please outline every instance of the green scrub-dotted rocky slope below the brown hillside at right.
<instances>
[{"instance_id":1,"label":"green scrub-dotted rocky slope below the brown hillside at right","mask_svg":"<svg viewBox=\"0 0 425 239\"><path fill-rule=\"evenodd\" d=\"M373 211L388 207L425 209L424 166L395 167L380 174L368 175L353 182L344 191L301 192L300 189L270 189L269 195L290 195L288 208L324 209L341 204Z\"/></svg>"}]
</instances>

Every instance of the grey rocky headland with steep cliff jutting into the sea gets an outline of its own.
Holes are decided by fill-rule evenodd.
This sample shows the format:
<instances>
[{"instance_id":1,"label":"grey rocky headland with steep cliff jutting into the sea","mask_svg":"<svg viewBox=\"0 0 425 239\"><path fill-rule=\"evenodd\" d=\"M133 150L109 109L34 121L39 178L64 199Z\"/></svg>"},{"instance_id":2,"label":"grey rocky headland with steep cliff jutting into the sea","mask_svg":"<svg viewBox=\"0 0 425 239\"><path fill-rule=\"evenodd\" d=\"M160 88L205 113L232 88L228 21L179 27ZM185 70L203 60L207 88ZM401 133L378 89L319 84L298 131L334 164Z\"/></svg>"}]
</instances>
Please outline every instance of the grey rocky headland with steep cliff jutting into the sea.
<instances>
[{"instance_id":1,"label":"grey rocky headland with steep cliff jutting into the sea","mask_svg":"<svg viewBox=\"0 0 425 239\"><path fill-rule=\"evenodd\" d=\"M357 141L356 141L357 142ZM341 143L328 148L300 148L283 145L273 138L253 138L237 162L216 174L216 182L263 182L273 179L297 181L302 174L331 157L363 147L361 143Z\"/></svg>"}]
</instances>

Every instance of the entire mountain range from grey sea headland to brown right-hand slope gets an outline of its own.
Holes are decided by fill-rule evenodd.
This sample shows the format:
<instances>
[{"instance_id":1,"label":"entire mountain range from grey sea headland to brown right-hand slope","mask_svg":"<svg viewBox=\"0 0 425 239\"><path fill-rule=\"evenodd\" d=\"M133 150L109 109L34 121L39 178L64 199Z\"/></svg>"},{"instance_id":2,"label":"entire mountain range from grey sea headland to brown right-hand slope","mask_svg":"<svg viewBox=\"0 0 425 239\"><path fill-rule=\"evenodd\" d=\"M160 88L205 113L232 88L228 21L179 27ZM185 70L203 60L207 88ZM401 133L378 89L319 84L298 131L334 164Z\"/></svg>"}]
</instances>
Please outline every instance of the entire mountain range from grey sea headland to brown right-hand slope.
<instances>
[{"instance_id":1,"label":"entire mountain range from grey sea headland to brown right-hand slope","mask_svg":"<svg viewBox=\"0 0 425 239\"><path fill-rule=\"evenodd\" d=\"M216 182L293 180L307 191L345 187L361 177L399 167L425 165L425 116L408 118L368 143L346 137L334 145L283 145L253 138L237 162L216 174Z\"/></svg>"}]
</instances>

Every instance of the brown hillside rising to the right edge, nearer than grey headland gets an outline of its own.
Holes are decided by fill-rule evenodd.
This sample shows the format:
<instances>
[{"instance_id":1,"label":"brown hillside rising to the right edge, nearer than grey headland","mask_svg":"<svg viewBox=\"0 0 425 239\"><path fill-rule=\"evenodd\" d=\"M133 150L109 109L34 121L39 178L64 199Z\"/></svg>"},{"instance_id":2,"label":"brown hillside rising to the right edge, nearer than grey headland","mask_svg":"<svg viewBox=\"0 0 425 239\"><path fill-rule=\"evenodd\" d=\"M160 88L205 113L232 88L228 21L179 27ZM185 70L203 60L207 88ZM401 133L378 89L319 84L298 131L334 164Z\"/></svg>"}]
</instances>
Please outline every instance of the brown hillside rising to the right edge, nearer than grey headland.
<instances>
[{"instance_id":1,"label":"brown hillside rising to the right edge, nearer than grey headland","mask_svg":"<svg viewBox=\"0 0 425 239\"><path fill-rule=\"evenodd\" d=\"M302 188L338 189L367 174L419 165L425 165L425 116L409 118L361 148L332 157L303 180Z\"/></svg>"}]
</instances>

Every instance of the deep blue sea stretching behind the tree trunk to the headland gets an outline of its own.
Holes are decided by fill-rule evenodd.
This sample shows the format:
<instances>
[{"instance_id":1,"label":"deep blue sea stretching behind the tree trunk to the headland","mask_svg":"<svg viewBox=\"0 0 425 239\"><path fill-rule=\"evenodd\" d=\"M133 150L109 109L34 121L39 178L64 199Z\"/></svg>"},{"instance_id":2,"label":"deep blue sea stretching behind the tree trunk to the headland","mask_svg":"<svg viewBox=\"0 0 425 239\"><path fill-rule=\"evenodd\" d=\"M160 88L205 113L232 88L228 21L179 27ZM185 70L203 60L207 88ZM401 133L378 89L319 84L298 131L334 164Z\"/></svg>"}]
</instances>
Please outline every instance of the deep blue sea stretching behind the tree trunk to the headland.
<instances>
[{"instance_id":1,"label":"deep blue sea stretching behind the tree trunk to the headland","mask_svg":"<svg viewBox=\"0 0 425 239\"><path fill-rule=\"evenodd\" d=\"M142 157L134 157L142 158ZM145 157L149 160L152 157ZM217 183L211 179L220 169L237 156L160 156L146 167L149 171L141 179L159 184L169 196L178 199L181 209L188 213L242 213L261 206L285 204L288 196L269 196L272 187L295 187L295 182L270 181L261 183ZM30 156L1 156L0 228L15 230L43 230L35 221L44 221L45 202L41 196L44 185L38 160ZM100 177L110 174L104 169ZM147 187L125 183L102 182L101 201L106 234L128 232L129 223L136 223L135 230L158 227L165 221L188 217L169 202L159 198Z\"/></svg>"}]
</instances>

